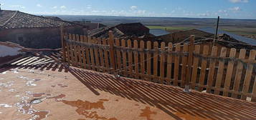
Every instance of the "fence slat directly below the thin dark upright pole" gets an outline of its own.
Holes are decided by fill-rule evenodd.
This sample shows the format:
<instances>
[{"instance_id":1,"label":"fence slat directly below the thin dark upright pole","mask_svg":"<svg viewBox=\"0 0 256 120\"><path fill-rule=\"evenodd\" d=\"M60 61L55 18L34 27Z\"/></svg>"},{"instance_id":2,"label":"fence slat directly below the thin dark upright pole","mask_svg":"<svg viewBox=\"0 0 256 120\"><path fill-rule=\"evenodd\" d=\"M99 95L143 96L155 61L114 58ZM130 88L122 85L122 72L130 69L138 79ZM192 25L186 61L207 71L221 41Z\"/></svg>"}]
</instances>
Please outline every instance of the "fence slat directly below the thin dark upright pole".
<instances>
[{"instance_id":1,"label":"fence slat directly below the thin dark upright pole","mask_svg":"<svg viewBox=\"0 0 256 120\"><path fill-rule=\"evenodd\" d=\"M212 54L211 56L216 57L217 56L217 46L212 47ZM208 80L207 80L207 93L211 93L211 89L209 87L212 87L213 77L214 77L214 71L215 71L215 59L211 59L210 65L209 65L209 74L208 74Z\"/></svg>"}]
</instances>

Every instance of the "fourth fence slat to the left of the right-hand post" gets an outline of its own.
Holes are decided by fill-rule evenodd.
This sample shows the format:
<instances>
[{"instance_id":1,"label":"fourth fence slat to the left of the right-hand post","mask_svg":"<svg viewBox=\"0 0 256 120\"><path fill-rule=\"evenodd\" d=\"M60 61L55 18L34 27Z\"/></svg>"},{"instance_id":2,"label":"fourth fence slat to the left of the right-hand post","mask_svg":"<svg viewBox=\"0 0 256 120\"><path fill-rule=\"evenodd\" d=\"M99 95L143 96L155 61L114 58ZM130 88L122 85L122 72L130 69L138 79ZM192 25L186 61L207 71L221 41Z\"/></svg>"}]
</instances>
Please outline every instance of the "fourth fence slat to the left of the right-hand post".
<instances>
[{"instance_id":1,"label":"fourth fence slat to the left of the right-hand post","mask_svg":"<svg viewBox=\"0 0 256 120\"><path fill-rule=\"evenodd\" d=\"M161 42L161 51L165 51L166 49L166 43L165 42ZM163 84L163 79L164 79L164 60L165 60L166 56L165 54L162 52L161 57L160 57L160 83Z\"/></svg>"}]
</instances>

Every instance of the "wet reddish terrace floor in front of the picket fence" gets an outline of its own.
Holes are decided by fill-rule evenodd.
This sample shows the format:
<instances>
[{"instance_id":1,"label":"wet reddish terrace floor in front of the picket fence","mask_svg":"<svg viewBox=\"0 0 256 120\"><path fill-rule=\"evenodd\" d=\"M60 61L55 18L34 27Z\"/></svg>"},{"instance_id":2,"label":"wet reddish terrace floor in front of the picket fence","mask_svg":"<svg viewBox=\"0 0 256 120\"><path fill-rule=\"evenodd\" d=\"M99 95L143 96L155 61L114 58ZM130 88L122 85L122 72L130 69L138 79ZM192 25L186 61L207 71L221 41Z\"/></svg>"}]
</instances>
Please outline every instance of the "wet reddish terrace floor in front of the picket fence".
<instances>
[{"instance_id":1,"label":"wet reddish terrace floor in front of the picket fence","mask_svg":"<svg viewBox=\"0 0 256 120\"><path fill-rule=\"evenodd\" d=\"M256 119L256 104L72 68L0 73L1 120Z\"/></svg>"}]
</instances>

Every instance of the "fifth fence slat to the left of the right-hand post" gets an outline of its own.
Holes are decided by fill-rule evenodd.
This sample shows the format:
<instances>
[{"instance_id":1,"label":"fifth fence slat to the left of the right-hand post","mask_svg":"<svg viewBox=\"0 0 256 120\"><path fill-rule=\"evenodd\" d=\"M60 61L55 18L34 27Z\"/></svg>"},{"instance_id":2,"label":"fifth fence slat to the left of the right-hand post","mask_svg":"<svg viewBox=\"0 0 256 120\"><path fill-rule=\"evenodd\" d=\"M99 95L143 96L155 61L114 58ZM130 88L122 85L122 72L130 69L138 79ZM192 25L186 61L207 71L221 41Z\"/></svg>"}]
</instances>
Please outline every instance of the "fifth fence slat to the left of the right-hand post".
<instances>
[{"instance_id":1,"label":"fifth fence slat to the left of the right-hand post","mask_svg":"<svg viewBox=\"0 0 256 120\"><path fill-rule=\"evenodd\" d=\"M155 50L153 53L153 75L158 75L158 42L153 42L153 49ZM155 82L158 82L158 79L154 79Z\"/></svg>"}]
</instances>

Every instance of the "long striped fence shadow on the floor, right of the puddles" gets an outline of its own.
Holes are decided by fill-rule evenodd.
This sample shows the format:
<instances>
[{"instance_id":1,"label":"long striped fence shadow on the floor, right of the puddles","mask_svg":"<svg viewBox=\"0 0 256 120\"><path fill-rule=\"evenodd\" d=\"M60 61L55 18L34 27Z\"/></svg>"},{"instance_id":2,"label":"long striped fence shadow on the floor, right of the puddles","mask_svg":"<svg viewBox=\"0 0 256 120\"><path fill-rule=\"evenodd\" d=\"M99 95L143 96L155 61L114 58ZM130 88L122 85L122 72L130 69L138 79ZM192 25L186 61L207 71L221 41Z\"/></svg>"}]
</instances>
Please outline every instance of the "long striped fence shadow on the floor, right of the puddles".
<instances>
[{"instance_id":1,"label":"long striped fence shadow on the floor, right of the puddles","mask_svg":"<svg viewBox=\"0 0 256 120\"><path fill-rule=\"evenodd\" d=\"M224 98L212 94L191 92L182 89L153 84L134 79L119 78L93 71L70 68L70 73L85 84L93 93L106 91L110 94L156 106L174 119L186 117L202 119L230 120L256 119L256 104L246 101Z\"/></svg>"}]
</instances>

